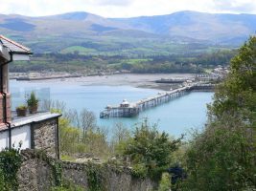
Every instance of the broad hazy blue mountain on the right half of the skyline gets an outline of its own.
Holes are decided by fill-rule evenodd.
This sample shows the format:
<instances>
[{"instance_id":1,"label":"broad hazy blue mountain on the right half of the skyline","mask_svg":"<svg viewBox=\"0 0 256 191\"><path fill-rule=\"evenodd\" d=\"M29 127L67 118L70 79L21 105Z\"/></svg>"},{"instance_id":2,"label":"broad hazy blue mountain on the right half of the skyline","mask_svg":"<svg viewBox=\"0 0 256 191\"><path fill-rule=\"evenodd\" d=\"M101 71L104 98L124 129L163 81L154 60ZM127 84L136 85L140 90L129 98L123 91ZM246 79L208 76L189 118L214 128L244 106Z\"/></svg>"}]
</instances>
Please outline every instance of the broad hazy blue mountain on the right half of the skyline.
<instances>
[{"instance_id":1,"label":"broad hazy blue mountain on the right half of the skyline","mask_svg":"<svg viewBox=\"0 0 256 191\"><path fill-rule=\"evenodd\" d=\"M215 43L244 42L256 31L254 14L213 14L179 11L168 15L112 19L144 32L179 35Z\"/></svg>"}]
</instances>

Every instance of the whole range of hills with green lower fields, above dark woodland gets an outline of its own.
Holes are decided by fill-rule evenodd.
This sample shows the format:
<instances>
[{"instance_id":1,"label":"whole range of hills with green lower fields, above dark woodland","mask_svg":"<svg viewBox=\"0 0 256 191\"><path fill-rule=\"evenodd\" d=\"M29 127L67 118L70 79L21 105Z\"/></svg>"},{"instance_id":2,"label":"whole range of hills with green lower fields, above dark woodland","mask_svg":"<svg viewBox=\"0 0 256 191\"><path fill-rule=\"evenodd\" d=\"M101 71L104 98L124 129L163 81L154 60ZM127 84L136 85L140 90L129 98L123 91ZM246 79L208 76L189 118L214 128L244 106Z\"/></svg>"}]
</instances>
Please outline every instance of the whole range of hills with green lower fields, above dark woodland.
<instances>
[{"instance_id":1,"label":"whole range of hills with green lower fields, above dark woodland","mask_svg":"<svg viewBox=\"0 0 256 191\"><path fill-rule=\"evenodd\" d=\"M35 53L207 52L237 47L255 29L254 14L179 11L133 18L104 18L82 11L41 17L0 14L0 33L24 42Z\"/></svg>"}]
</instances>

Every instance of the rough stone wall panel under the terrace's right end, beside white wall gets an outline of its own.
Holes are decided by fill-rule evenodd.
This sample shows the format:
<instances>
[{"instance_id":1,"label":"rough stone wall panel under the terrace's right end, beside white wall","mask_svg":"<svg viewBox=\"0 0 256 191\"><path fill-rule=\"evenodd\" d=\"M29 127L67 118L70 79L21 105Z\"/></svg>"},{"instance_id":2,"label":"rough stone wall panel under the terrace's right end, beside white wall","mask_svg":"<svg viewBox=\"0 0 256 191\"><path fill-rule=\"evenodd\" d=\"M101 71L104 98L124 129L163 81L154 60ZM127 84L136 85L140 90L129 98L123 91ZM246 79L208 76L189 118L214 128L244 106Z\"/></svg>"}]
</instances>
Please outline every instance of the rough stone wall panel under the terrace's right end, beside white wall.
<instances>
[{"instance_id":1,"label":"rough stone wall panel under the terrace's right end, beside white wall","mask_svg":"<svg viewBox=\"0 0 256 191\"><path fill-rule=\"evenodd\" d=\"M32 149L45 150L53 158L58 155L58 118L39 121L31 125Z\"/></svg>"}]
</instances>

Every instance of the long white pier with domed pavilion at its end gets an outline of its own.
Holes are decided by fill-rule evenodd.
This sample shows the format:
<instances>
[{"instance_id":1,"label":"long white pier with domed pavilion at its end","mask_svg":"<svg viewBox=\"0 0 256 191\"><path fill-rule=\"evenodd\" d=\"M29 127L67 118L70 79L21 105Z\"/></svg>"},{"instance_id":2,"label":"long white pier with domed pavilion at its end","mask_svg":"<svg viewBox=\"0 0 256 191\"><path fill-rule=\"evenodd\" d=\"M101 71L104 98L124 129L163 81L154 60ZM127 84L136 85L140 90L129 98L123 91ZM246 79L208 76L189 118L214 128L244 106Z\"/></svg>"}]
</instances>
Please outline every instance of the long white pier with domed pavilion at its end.
<instances>
[{"instance_id":1,"label":"long white pier with domed pavilion at its end","mask_svg":"<svg viewBox=\"0 0 256 191\"><path fill-rule=\"evenodd\" d=\"M213 87L213 84L192 83L177 88L175 90L171 90L164 93L158 93L156 96L151 96L145 99L138 100L136 102L128 102L128 100L124 99L123 102L118 106L106 106L105 110L101 112L100 117L135 117L139 113L147 109L167 103L170 100L179 96L184 96L190 93L191 91L209 91L212 90Z\"/></svg>"}]
</instances>

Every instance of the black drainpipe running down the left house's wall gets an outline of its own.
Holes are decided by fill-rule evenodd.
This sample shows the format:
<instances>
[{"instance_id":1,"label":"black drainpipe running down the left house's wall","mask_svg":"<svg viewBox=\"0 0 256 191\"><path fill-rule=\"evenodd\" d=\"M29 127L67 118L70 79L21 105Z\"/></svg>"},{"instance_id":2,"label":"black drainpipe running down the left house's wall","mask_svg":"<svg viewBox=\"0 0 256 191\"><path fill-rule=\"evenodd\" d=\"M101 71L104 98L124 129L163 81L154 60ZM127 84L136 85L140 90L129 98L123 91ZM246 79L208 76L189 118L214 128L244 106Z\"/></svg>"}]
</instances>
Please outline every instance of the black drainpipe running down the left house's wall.
<instances>
[{"instance_id":1,"label":"black drainpipe running down the left house's wall","mask_svg":"<svg viewBox=\"0 0 256 191\"><path fill-rule=\"evenodd\" d=\"M9 131L9 148L12 148L12 126L11 123L9 121L7 121L7 93L4 92L4 84L3 84L3 79L4 79L4 75L3 75L3 67L7 64L9 64L10 62L12 62L12 52L10 53L11 55L11 59L8 60L7 62L4 62L1 67L0 67L0 72L1 72L1 84L0 84L0 91L1 91L1 95L3 96L3 122L7 124L8 126L8 131Z\"/></svg>"}]
</instances>

